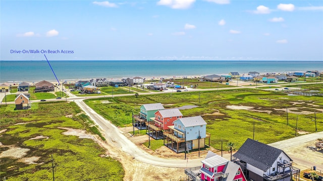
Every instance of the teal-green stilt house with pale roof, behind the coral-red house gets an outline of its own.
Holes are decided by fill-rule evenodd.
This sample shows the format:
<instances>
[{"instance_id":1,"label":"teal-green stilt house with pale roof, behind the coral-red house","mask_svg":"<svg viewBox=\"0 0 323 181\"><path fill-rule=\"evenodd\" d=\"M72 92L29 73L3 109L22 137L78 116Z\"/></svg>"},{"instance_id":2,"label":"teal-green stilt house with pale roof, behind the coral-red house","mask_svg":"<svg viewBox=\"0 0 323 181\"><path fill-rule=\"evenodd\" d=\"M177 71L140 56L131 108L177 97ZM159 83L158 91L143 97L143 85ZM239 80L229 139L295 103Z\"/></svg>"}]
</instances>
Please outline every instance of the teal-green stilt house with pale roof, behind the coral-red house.
<instances>
[{"instance_id":1,"label":"teal-green stilt house with pale roof, behind the coral-red house","mask_svg":"<svg viewBox=\"0 0 323 181\"><path fill-rule=\"evenodd\" d=\"M153 103L153 104L144 104L140 106L139 115L133 115L133 119L136 123L133 126L138 129L146 129L146 122L152 121L150 118L155 117L155 112L158 110L165 109L161 103Z\"/></svg>"}]
</instances>

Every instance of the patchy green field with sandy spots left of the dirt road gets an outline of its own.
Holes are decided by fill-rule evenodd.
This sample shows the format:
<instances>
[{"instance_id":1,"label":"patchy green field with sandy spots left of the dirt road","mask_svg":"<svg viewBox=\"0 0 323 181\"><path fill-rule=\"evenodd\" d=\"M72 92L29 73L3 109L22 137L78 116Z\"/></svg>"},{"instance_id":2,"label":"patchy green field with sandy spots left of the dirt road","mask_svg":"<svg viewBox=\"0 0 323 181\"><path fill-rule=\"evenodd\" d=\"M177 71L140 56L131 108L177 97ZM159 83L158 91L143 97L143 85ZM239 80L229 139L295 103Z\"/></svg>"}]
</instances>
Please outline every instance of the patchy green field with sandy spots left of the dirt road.
<instances>
[{"instance_id":1,"label":"patchy green field with sandy spots left of the dirt road","mask_svg":"<svg viewBox=\"0 0 323 181\"><path fill-rule=\"evenodd\" d=\"M38 157L37 164L27 164L15 157L1 158L0 174L7 180L52 180L51 155L56 180L122 180L124 170L119 161L105 155L105 151L91 139L63 135L58 127L98 133L93 122L77 105L65 102L34 103L35 109L13 111L14 105L0 108L0 153L12 148L29 149L24 158ZM20 123L20 124L17 124ZM34 139L36 136L47 138ZM20 161L18 161L20 160Z\"/></svg>"}]
</instances>

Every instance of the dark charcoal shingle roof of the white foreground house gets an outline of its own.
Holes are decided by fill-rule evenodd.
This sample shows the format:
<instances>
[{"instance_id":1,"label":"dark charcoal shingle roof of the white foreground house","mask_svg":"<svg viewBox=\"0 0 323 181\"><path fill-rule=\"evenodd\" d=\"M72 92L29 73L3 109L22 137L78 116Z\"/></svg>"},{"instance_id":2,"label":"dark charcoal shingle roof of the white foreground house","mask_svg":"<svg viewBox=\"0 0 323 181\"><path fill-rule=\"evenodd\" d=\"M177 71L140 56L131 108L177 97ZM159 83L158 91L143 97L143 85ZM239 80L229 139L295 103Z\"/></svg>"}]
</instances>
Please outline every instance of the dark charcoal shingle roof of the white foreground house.
<instances>
[{"instance_id":1,"label":"dark charcoal shingle roof of the white foreground house","mask_svg":"<svg viewBox=\"0 0 323 181\"><path fill-rule=\"evenodd\" d=\"M284 151L248 138L232 156L266 171L277 161L282 152Z\"/></svg>"}]
</instances>

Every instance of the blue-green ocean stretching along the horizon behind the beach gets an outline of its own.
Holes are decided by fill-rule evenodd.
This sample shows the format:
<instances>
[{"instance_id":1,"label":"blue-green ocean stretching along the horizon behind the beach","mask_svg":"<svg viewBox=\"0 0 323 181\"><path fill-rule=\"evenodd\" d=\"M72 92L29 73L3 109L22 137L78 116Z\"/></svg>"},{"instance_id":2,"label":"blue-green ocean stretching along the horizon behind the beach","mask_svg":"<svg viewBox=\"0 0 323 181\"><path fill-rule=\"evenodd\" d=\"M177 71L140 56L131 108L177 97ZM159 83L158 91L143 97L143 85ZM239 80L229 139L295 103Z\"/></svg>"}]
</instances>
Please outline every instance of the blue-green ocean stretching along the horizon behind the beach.
<instances>
[{"instance_id":1,"label":"blue-green ocean stretching along the horizon behind the beach","mask_svg":"<svg viewBox=\"0 0 323 181\"><path fill-rule=\"evenodd\" d=\"M249 71L323 71L323 61L87 60L49 61L60 81L91 78L182 77ZM55 81L47 61L0 61L0 82Z\"/></svg>"}]
</instances>

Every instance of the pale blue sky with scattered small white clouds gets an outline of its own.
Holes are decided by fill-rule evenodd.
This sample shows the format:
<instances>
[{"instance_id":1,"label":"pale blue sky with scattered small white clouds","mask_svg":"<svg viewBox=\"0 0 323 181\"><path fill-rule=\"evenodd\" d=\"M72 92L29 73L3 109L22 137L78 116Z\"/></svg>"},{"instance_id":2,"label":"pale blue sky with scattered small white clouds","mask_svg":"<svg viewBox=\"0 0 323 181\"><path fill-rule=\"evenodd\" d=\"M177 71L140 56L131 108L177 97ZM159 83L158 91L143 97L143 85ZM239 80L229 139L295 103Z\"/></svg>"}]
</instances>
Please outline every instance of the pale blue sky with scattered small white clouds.
<instances>
[{"instance_id":1,"label":"pale blue sky with scattered small white clouds","mask_svg":"<svg viewBox=\"0 0 323 181\"><path fill-rule=\"evenodd\" d=\"M0 1L1 60L323 60L323 1Z\"/></svg>"}]
</instances>

